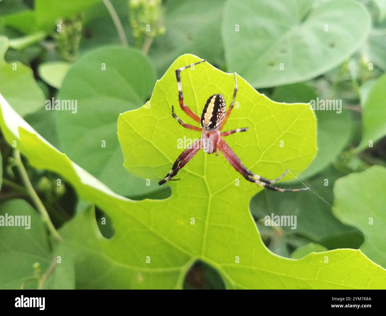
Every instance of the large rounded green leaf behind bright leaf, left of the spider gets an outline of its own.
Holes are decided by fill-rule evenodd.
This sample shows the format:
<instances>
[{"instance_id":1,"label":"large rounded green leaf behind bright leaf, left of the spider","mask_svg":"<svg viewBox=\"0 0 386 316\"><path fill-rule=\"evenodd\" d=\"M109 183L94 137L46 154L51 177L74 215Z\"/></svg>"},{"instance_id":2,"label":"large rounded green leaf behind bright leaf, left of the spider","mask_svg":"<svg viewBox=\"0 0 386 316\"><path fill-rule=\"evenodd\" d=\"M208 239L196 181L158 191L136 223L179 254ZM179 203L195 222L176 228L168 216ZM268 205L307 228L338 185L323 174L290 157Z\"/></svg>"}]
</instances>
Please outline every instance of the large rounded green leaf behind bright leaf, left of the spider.
<instances>
[{"instance_id":1,"label":"large rounded green leaf behind bright leaf, left of the spider","mask_svg":"<svg viewBox=\"0 0 386 316\"><path fill-rule=\"evenodd\" d=\"M154 68L141 53L127 48L100 48L74 63L59 91L57 99L77 100L78 104L76 114L56 111L61 148L122 195L135 197L159 190L156 182L147 186L146 180L125 171L117 138L119 114L144 104L155 81Z\"/></svg>"}]
</instances>

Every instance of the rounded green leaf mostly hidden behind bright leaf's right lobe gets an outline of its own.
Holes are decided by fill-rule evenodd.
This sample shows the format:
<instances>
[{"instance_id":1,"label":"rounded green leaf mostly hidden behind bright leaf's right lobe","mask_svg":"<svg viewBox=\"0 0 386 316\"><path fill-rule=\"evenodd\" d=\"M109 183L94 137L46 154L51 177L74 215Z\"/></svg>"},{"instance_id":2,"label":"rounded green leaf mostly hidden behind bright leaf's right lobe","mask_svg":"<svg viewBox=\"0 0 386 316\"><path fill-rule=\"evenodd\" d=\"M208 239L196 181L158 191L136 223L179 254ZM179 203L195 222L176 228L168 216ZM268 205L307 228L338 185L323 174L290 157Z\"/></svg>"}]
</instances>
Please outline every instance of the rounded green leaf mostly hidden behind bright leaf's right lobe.
<instances>
[{"instance_id":1,"label":"rounded green leaf mostly hidden behind bright leaf's right lobe","mask_svg":"<svg viewBox=\"0 0 386 316\"><path fill-rule=\"evenodd\" d=\"M315 90L304 83L295 83L276 87L272 99L277 102L304 102L317 100ZM339 101L339 100L334 100ZM301 174L301 178L308 178L326 168L340 151L345 147L350 137L351 121L348 110L336 111L316 110L317 117L317 148L314 160ZM332 141L332 139L334 141Z\"/></svg>"}]
</instances>

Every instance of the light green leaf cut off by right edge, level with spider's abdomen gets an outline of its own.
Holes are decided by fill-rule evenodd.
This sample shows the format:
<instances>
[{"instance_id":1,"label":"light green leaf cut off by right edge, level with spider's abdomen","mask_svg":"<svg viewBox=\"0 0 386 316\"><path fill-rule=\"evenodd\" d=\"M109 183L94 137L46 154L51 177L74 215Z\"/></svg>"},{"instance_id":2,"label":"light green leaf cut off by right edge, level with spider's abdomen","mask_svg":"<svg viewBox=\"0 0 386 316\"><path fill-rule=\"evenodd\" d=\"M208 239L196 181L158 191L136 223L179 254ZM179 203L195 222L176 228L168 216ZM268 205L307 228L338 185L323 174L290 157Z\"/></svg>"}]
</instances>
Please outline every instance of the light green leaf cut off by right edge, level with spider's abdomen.
<instances>
[{"instance_id":1,"label":"light green leaf cut off by right edge, level with spider's abdomen","mask_svg":"<svg viewBox=\"0 0 386 316\"><path fill-rule=\"evenodd\" d=\"M374 144L386 135L386 73L380 76L372 87L362 109L362 140L357 151L369 148L369 141Z\"/></svg>"}]
</instances>

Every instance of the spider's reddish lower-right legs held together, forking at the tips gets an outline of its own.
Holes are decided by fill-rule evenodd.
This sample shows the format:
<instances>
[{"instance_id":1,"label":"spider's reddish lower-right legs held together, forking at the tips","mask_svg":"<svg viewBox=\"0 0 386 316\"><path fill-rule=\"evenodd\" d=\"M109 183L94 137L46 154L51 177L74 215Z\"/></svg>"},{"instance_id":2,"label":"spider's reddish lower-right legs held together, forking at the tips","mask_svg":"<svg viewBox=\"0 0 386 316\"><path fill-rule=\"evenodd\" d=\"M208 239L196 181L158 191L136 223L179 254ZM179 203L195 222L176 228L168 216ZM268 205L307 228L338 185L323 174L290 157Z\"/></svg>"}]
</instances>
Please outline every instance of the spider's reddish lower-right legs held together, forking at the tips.
<instances>
[{"instance_id":1,"label":"spider's reddish lower-right legs held together, forking at the tips","mask_svg":"<svg viewBox=\"0 0 386 316\"><path fill-rule=\"evenodd\" d=\"M303 190L309 189L309 188L281 189L281 188L273 187L270 184L275 183L276 181L283 178L284 175L286 175L286 173L288 172L288 170L286 170L286 172L284 172L279 178L277 178L275 180L267 180L263 177L260 177L259 175L252 173L251 171L249 171L242 164L241 160L239 159L239 157L237 157L237 155L234 153L232 148L230 148L229 145L223 139L221 139L220 144L218 144L218 148L220 148L220 151L223 153L225 159L230 163L230 165L232 165L232 167L235 168L235 170L237 172L239 172L249 182L255 183L263 188L266 188L266 189L269 189L272 191L280 191L280 192L286 192L286 191L296 192L296 191L303 191Z\"/></svg>"}]
</instances>

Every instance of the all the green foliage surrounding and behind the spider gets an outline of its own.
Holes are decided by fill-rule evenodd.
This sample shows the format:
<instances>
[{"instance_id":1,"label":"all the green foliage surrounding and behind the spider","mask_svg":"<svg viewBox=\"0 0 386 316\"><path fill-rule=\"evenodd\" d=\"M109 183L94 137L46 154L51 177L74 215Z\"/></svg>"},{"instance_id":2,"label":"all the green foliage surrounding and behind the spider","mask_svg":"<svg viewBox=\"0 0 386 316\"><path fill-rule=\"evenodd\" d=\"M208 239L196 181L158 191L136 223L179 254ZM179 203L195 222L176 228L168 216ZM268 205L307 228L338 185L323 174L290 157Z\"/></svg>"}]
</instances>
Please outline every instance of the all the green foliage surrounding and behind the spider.
<instances>
[{"instance_id":1,"label":"all the green foliage surrounding and behind the spider","mask_svg":"<svg viewBox=\"0 0 386 316\"><path fill-rule=\"evenodd\" d=\"M102 0L0 1L0 212L32 220L0 226L0 287L386 288L382 1L108 3L118 20ZM157 185L176 140L199 137L170 112L192 123L174 70L201 58L181 74L185 103L229 105L237 72L225 129L249 130L227 142L252 171L289 168L278 186L310 191L261 191L202 151ZM77 113L47 111L52 97ZM312 111L317 98L342 113ZM297 228L265 226L271 213Z\"/></svg>"}]
</instances>

